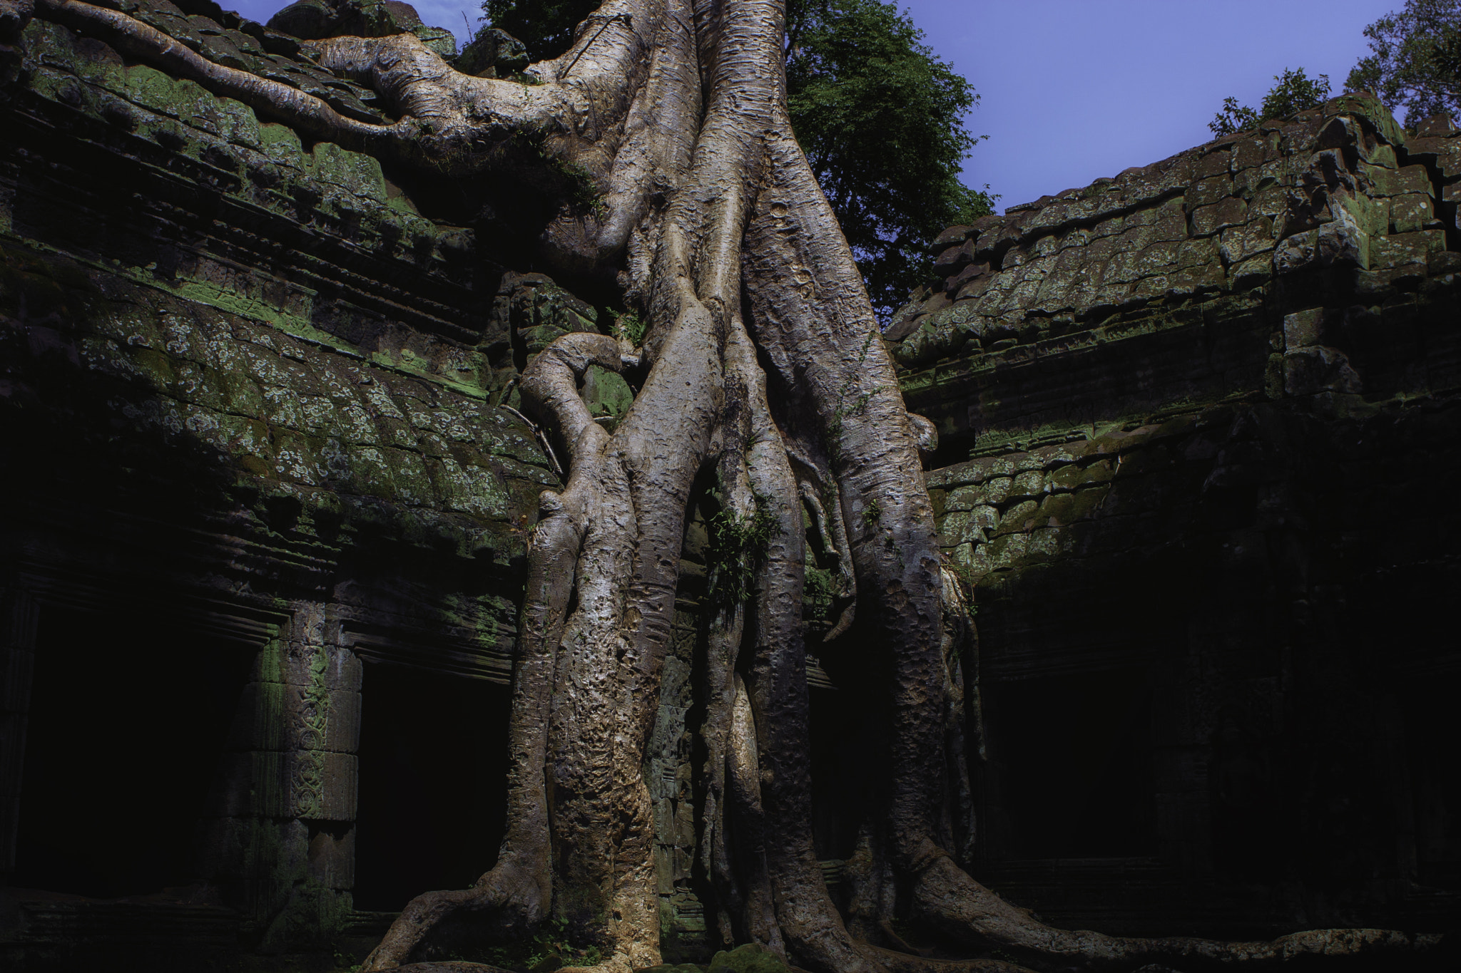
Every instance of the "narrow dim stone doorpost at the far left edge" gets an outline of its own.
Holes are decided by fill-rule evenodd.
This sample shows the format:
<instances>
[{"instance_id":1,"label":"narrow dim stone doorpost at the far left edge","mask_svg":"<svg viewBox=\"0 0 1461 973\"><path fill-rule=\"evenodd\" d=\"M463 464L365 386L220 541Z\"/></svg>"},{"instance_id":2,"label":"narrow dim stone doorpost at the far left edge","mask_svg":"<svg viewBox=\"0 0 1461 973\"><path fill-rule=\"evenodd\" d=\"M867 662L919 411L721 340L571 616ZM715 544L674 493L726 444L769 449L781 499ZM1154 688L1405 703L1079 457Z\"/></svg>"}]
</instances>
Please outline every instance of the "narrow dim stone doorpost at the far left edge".
<instances>
[{"instance_id":1,"label":"narrow dim stone doorpost at the far left edge","mask_svg":"<svg viewBox=\"0 0 1461 973\"><path fill-rule=\"evenodd\" d=\"M0 884L15 871L25 724L35 670L37 604L19 585L0 585Z\"/></svg>"}]
</instances>

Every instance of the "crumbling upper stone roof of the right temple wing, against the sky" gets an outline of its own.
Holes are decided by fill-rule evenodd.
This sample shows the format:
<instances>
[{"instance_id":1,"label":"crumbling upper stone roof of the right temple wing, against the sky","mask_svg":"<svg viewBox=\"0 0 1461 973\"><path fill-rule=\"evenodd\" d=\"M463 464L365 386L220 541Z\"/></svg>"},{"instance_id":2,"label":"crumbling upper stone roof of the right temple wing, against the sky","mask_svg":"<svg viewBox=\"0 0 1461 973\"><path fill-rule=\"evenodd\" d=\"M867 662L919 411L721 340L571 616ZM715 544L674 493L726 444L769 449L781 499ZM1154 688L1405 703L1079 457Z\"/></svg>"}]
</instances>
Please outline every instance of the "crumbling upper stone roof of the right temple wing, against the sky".
<instances>
[{"instance_id":1,"label":"crumbling upper stone roof of the right temple wing, against the sky","mask_svg":"<svg viewBox=\"0 0 1461 973\"><path fill-rule=\"evenodd\" d=\"M1407 136L1375 98L1346 95L948 228L934 244L944 286L916 295L884 337L916 371L1071 350L1143 309L1252 292L1316 264L1349 261L1379 292L1458 265L1446 242L1458 179L1448 123Z\"/></svg>"}]
</instances>

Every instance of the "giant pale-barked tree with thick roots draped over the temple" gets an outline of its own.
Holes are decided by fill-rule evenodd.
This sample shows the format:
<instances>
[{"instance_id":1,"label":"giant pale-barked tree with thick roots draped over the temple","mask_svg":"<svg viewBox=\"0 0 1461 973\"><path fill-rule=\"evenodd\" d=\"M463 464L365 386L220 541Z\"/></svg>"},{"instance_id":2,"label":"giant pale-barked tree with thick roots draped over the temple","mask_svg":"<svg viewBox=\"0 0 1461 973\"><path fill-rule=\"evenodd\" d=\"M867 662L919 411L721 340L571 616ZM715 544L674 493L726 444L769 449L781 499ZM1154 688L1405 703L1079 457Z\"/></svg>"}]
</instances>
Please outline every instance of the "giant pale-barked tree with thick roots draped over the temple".
<instances>
[{"instance_id":1,"label":"giant pale-barked tree with thick roots draped over the temple","mask_svg":"<svg viewBox=\"0 0 1461 973\"><path fill-rule=\"evenodd\" d=\"M703 476L716 480L717 532L735 541L719 546L713 570L745 582L709 601L703 659L703 853L729 937L817 970L915 969L920 960L853 935L891 929L897 902L972 951L999 947L1043 967L1274 963L1416 944L1373 929L1239 944L1069 932L955 864L941 836L957 719L945 706L957 691L947 652L967 613L941 565L920 473L929 426L903 407L852 251L792 134L782 0L609 0L573 48L529 67L536 83L456 73L413 34L307 45L320 64L370 83L393 123L346 118L205 60L121 10L82 0L38 0L35 10L434 181L545 174L536 185L557 206L542 252L579 279L612 271L622 302L647 321L637 343L627 328L562 336L522 375L523 406L562 446L568 471L561 490L541 496L527 559L507 833L470 888L409 903L367 970L451 938L524 937L549 916L592 937L605 970L659 961L641 767L687 506ZM637 388L612 433L580 398L590 366ZM804 497L834 538L827 550L888 686L887 796L850 871L866 894L846 922L809 830Z\"/></svg>"}]
</instances>

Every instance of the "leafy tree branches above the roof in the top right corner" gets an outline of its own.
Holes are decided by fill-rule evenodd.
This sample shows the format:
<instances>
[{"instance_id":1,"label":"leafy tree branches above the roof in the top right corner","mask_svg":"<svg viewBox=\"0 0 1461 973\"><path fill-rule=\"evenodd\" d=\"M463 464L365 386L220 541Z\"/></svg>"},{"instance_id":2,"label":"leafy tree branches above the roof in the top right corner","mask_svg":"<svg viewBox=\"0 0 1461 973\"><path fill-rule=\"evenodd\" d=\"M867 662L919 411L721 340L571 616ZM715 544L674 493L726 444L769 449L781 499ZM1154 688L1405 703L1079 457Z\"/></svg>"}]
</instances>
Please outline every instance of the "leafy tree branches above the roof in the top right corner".
<instances>
[{"instance_id":1,"label":"leafy tree branches above the roof in the top right corner","mask_svg":"<svg viewBox=\"0 0 1461 973\"><path fill-rule=\"evenodd\" d=\"M1391 111L1405 109L1407 124L1461 115L1461 0L1405 0L1365 28L1372 54L1344 82L1373 92Z\"/></svg>"}]
</instances>

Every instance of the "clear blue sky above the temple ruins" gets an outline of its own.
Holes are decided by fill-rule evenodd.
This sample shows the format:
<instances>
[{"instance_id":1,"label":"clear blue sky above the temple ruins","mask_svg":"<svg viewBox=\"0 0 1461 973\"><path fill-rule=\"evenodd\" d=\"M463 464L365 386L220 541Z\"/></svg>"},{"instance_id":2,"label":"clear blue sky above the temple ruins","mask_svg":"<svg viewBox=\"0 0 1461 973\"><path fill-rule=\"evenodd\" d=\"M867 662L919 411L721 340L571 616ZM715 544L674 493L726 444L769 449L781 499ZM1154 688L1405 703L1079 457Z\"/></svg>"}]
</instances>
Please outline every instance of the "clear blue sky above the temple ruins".
<instances>
[{"instance_id":1,"label":"clear blue sky above the temple ruins","mask_svg":"<svg viewBox=\"0 0 1461 973\"><path fill-rule=\"evenodd\" d=\"M267 20L281 0L222 0ZM463 36L479 0L421 0ZM1404 0L900 0L929 47L973 82L969 128L989 136L964 181L999 207L1088 185L1207 142L1233 95L1258 106L1286 67L1334 93L1367 53L1363 29Z\"/></svg>"}]
</instances>

